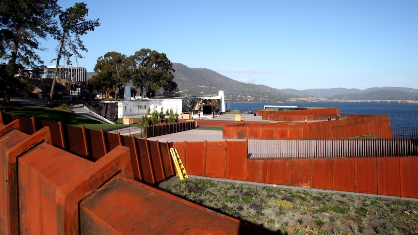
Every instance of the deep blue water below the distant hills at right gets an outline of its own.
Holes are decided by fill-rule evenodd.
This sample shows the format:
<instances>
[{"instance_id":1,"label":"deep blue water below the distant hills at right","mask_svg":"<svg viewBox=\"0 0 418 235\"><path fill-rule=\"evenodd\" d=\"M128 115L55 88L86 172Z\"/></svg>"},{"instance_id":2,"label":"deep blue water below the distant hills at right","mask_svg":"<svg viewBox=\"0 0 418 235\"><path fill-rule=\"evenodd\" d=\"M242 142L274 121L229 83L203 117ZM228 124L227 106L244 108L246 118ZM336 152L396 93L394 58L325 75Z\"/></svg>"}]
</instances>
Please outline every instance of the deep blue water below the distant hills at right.
<instances>
[{"instance_id":1,"label":"deep blue water below the distant hills at right","mask_svg":"<svg viewBox=\"0 0 418 235\"><path fill-rule=\"evenodd\" d=\"M264 105L339 108L343 114L388 115L392 127L418 126L418 104L360 102L231 103L232 110L259 110Z\"/></svg>"}]
</instances>

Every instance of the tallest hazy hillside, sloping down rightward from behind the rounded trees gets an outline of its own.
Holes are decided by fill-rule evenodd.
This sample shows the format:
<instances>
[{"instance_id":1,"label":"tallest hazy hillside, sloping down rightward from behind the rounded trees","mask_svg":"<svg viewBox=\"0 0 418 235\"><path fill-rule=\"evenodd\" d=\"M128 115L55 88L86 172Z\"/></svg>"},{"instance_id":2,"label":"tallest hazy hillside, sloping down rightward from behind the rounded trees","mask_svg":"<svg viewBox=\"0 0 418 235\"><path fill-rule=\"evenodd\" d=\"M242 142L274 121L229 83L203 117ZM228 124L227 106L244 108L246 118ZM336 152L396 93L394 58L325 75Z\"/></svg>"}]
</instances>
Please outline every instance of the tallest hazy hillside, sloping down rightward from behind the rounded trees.
<instances>
[{"instance_id":1,"label":"tallest hazy hillside, sloping down rightward from behind the rounded trees","mask_svg":"<svg viewBox=\"0 0 418 235\"><path fill-rule=\"evenodd\" d=\"M239 82L206 68L173 63L173 69L176 70L174 81L182 96L211 96L224 91L225 98L232 102L281 102L301 96L285 94L264 85Z\"/></svg>"}]
</instances>

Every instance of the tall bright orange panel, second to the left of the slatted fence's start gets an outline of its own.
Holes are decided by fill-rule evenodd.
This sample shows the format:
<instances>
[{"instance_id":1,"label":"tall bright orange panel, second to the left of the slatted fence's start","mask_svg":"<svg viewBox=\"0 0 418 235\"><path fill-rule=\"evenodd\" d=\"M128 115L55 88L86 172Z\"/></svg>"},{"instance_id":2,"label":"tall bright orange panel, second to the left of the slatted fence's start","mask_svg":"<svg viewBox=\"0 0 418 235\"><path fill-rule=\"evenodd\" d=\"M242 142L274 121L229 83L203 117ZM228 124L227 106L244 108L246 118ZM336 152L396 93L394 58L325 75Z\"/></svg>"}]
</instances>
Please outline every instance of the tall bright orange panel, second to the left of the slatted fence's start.
<instances>
[{"instance_id":1,"label":"tall bright orange panel, second to the left of the slatted fence's start","mask_svg":"<svg viewBox=\"0 0 418 235\"><path fill-rule=\"evenodd\" d=\"M207 177L226 177L226 141L207 142L206 170Z\"/></svg>"}]
</instances>

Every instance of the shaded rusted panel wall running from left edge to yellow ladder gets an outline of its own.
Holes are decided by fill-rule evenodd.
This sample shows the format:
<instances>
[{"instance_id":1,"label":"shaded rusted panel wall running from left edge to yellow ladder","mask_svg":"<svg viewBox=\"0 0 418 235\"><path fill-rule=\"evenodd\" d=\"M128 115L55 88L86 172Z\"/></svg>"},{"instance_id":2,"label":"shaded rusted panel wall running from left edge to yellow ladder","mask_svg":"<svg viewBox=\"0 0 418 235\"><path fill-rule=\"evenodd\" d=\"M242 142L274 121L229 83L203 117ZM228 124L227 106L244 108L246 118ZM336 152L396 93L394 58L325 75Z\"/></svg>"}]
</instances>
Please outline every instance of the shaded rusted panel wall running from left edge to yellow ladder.
<instances>
[{"instance_id":1,"label":"shaded rusted panel wall running from left edge to yellow ladder","mask_svg":"<svg viewBox=\"0 0 418 235\"><path fill-rule=\"evenodd\" d=\"M173 171L171 156L167 150L168 145L158 143L158 141L120 136L120 134L86 129L84 126L36 121L34 117L23 118L3 113L1 120L3 124L18 120L19 130L24 128L28 132L27 134L48 126L52 130L50 133L54 146L93 162L118 145L127 146L130 150L134 176L146 184L155 184L176 174Z\"/></svg>"}]
</instances>

